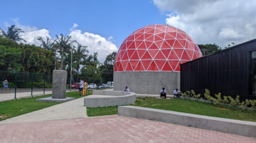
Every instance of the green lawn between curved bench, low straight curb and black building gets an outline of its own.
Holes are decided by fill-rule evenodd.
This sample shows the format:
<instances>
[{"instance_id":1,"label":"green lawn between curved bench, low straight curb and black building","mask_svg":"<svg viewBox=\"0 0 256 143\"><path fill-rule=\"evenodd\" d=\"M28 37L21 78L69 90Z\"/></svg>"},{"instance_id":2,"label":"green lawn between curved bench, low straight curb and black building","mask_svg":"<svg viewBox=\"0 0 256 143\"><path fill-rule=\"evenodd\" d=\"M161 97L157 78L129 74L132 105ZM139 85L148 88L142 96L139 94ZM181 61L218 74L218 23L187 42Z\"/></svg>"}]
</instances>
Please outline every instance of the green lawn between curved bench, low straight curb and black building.
<instances>
[{"instance_id":1,"label":"green lawn between curved bench, low straight curb and black building","mask_svg":"<svg viewBox=\"0 0 256 143\"><path fill-rule=\"evenodd\" d=\"M232 108L229 106L197 102L193 100L159 100L155 98L137 98L135 104L132 106L142 106L147 108L157 108L162 110L173 110L181 113L191 113L196 115L206 115L211 117L221 117L227 119L238 119L244 121L256 122L256 111L242 110L240 108ZM117 106L104 108L87 108L87 115L89 117L102 115L117 115Z\"/></svg>"}]
</instances>

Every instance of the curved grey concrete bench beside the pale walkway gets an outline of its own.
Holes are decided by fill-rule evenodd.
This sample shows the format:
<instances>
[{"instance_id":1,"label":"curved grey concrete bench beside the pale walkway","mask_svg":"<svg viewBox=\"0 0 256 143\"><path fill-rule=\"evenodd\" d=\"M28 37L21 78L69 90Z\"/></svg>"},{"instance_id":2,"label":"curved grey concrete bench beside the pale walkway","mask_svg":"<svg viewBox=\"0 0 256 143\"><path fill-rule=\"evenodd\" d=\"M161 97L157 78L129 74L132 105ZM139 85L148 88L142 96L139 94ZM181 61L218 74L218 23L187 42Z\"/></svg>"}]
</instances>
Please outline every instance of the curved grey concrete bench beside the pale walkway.
<instances>
[{"instance_id":1,"label":"curved grey concrete bench beside the pale walkway","mask_svg":"<svg viewBox=\"0 0 256 143\"><path fill-rule=\"evenodd\" d=\"M133 92L95 90L92 96L84 98L84 106L96 108L129 105L135 101L136 94Z\"/></svg>"}]
</instances>

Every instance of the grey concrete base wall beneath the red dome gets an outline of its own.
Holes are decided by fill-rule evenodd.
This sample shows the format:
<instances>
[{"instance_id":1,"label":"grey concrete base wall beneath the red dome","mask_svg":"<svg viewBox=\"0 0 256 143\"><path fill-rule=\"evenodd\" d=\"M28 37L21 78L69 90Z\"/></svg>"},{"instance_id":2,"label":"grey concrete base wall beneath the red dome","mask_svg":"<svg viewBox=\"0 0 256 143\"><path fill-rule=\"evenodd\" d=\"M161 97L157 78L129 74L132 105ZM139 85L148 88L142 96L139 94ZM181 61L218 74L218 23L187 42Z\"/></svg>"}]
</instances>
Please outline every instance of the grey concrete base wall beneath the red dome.
<instances>
[{"instance_id":1,"label":"grey concrete base wall beneath the red dome","mask_svg":"<svg viewBox=\"0 0 256 143\"><path fill-rule=\"evenodd\" d=\"M114 91L123 91L125 86L136 94L159 94L165 87L167 95L173 95L174 89L180 89L180 72L114 72Z\"/></svg>"}]
</instances>

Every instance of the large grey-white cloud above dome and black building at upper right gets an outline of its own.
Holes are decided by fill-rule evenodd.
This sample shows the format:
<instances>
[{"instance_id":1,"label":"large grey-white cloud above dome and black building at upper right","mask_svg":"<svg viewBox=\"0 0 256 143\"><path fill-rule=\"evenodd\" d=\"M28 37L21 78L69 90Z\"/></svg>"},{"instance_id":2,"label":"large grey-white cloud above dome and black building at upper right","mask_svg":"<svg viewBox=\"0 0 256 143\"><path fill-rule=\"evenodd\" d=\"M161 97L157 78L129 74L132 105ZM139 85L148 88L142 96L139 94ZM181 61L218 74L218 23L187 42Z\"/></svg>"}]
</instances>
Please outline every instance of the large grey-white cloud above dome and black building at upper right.
<instances>
[{"instance_id":1,"label":"large grey-white cloud above dome and black building at upper right","mask_svg":"<svg viewBox=\"0 0 256 143\"><path fill-rule=\"evenodd\" d=\"M166 24L185 30L197 43L243 43L256 38L256 1L153 0L170 12Z\"/></svg>"}]
</instances>

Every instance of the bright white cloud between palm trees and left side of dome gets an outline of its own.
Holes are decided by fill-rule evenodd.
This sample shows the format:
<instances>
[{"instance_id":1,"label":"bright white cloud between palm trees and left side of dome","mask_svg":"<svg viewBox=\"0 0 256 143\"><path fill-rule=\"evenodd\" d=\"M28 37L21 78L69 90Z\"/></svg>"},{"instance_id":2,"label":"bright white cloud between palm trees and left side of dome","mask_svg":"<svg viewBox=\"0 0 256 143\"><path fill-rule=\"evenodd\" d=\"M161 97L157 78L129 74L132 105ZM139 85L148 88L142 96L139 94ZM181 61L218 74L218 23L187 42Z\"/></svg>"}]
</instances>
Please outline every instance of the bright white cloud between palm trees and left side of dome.
<instances>
[{"instance_id":1,"label":"bright white cloud between palm trees and left side of dome","mask_svg":"<svg viewBox=\"0 0 256 143\"><path fill-rule=\"evenodd\" d=\"M99 62L104 62L106 56L112 52L117 52L117 47L110 41L112 38L108 38L108 40L100 35L95 35L93 33L82 33L81 30L73 30L69 34L72 40L76 40L81 45L88 46L89 54L93 54L93 52L98 52L98 60Z\"/></svg>"}]
</instances>

